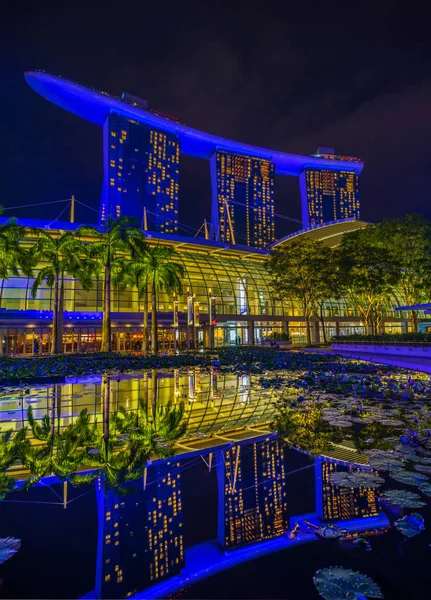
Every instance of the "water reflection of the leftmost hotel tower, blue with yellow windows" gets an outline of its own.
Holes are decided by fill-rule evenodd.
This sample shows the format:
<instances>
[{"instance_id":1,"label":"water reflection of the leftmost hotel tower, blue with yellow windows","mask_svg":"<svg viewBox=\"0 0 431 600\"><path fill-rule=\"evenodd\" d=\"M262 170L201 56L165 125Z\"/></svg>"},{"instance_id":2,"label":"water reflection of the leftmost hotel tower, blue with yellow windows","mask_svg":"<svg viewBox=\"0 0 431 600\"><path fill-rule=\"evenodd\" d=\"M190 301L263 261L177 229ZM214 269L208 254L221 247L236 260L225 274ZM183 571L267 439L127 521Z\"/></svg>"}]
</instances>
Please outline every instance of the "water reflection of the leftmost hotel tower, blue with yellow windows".
<instances>
[{"instance_id":1,"label":"water reflection of the leftmost hotel tower, blue with yellow windows","mask_svg":"<svg viewBox=\"0 0 431 600\"><path fill-rule=\"evenodd\" d=\"M184 566L179 463L148 469L146 489L97 487L96 597L125 598ZM142 486L142 479L135 483Z\"/></svg>"}]
</instances>

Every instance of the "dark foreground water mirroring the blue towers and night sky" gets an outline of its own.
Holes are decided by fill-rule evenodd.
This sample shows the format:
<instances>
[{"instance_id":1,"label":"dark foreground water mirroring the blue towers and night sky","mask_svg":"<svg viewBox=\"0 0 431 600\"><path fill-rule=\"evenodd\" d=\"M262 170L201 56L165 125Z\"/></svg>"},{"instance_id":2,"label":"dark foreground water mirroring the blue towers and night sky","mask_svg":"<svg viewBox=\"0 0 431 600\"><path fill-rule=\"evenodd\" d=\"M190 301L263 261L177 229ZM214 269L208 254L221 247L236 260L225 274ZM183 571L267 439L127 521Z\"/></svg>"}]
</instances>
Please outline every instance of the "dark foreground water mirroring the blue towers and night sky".
<instances>
[{"instance_id":1,"label":"dark foreground water mirroring the blue towers and night sky","mask_svg":"<svg viewBox=\"0 0 431 600\"><path fill-rule=\"evenodd\" d=\"M63 484L49 479L8 496L1 535L22 546L0 567L3 597L318 598L311 578L331 564L368 573L386 598L427 597L427 532L401 554L398 514L382 512L373 490L331 483L345 463L290 450L274 435L213 455L212 464L207 452L156 462L125 494L100 478L69 485L65 504ZM343 538L318 537L322 519Z\"/></svg>"}]
</instances>

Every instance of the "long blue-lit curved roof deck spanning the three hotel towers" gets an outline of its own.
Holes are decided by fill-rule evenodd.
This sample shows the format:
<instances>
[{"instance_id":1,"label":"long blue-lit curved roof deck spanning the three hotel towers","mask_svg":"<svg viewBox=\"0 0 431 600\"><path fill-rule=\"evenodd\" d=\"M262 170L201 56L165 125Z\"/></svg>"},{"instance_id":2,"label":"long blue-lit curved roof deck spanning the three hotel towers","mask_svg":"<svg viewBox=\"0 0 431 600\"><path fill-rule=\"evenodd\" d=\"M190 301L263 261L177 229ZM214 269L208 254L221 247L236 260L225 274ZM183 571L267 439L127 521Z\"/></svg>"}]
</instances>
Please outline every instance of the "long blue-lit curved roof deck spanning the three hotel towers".
<instances>
[{"instance_id":1,"label":"long blue-lit curved roof deck spanning the three hotel towers","mask_svg":"<svg viewBox=\"0 0 431 600\"><path fill-rule=\"evenodd\" d=\"M156 115L144 108L133 106L106 92L91 89L42 71L27 71L25 79L46 100L96 125L102 126L107 115L115 112L125 118L175 133L180 139L181 152L197 158L210 158L215 150L225 150L271 160L277 173L293 176L298 176L305 168L353 171L357 174L361 173L363 168L363 163L360 161L288 154L218 137Z\"/></svg>"}]
</instances>

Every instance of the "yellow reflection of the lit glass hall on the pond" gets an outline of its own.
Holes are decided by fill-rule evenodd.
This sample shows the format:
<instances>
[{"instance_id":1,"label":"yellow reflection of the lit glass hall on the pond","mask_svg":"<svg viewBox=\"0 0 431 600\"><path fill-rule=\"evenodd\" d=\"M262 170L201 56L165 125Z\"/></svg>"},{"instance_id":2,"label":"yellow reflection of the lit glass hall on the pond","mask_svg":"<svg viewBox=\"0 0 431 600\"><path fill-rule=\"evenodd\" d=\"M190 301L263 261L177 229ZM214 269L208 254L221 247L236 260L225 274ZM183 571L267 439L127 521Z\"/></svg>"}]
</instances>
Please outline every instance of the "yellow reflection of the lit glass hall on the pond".
<instances>
[{"instance_id":1,"label":"yellow reflection of the lit glass hall on the pond","mask_svg":"<svg viewBox=\"0 0 431 600\"><path fill-rule=\"evenodd\" d=\"M136 410L139 399L148 405L184 402L187 435L216 433L268 422L274 414L275 392L255 384L253 375L221 374L216 371L173 369L114 375L111 378L111 410L124 406ZM40 420L57 395L58 423L65 427L86 408L101 421L102 377L70 379L64 384L5 388L0 395L0 431L19 429L26 411L33 407Z\"/></svg>"}]
</instances>

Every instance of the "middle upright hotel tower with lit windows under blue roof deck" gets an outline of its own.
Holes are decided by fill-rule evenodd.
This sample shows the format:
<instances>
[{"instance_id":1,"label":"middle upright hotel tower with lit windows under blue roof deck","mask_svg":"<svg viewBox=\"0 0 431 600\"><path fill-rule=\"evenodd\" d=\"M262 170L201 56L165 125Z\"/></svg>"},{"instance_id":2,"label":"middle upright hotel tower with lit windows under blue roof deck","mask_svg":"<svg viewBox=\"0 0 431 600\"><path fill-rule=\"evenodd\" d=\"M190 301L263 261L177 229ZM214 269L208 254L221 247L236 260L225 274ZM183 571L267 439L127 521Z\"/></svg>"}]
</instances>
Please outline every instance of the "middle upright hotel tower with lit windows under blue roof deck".
<instances>
[{"instance_id":1,"label":"middle upright hotel tower with lit windows under blue roof deck","mask_svg":"<svg viewBox=\"0 0 431 600\"><path fill-rule=\"evenodd\" d=\"M216 238L256 248L269 246L275 240L273 163L217 150L211 158L211 180Z\"/></svg>"}]
</instances>

